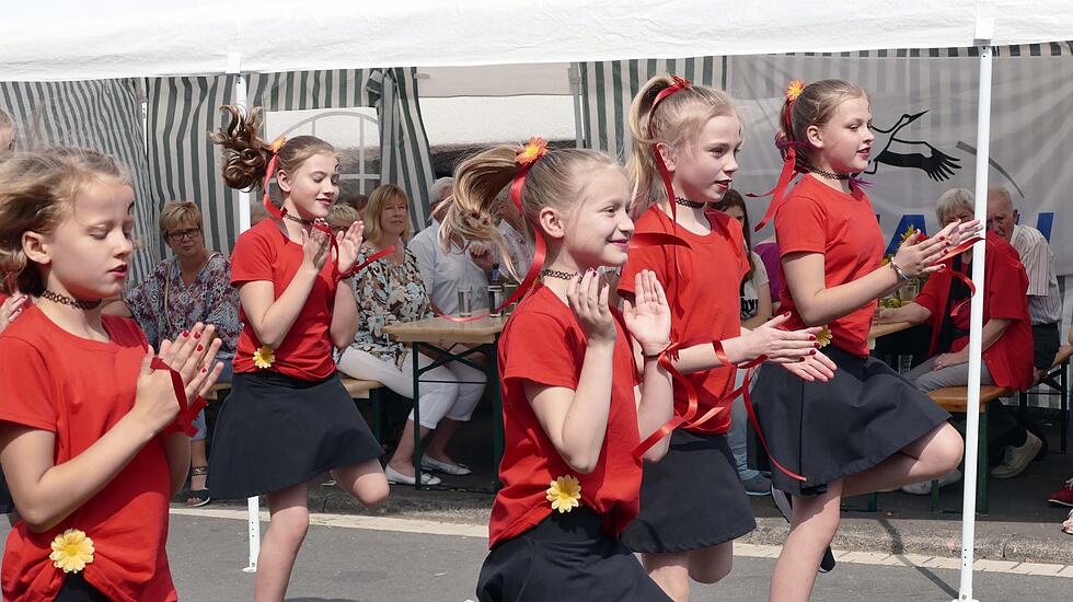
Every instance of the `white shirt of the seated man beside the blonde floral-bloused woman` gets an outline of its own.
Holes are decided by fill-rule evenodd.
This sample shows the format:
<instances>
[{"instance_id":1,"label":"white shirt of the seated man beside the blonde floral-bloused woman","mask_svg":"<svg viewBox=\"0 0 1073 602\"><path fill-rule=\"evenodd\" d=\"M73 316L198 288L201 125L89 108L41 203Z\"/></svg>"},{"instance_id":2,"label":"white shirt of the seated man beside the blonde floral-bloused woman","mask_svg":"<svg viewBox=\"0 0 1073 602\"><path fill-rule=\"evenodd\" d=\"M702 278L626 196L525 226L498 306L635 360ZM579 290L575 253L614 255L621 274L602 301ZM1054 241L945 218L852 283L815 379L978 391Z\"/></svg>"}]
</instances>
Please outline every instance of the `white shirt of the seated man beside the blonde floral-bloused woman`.
<instances>
[{"instance_id":1,"label":"white shirt of the seated man beside the blonde floral-bloused woman","mask_svg":"<svg viewBox=\"0 0 1073 602\"><path fill-rule=\"evenodd\" d=\"M457 315L459 289L472 287L473 310L488 309L488 276L470 258L470 254L451 243L451 252L443 253L439 243L440 223L422 230L409 241L408 248L417 257L425 290L437 309Z\"/></svg>"}]
</instances>

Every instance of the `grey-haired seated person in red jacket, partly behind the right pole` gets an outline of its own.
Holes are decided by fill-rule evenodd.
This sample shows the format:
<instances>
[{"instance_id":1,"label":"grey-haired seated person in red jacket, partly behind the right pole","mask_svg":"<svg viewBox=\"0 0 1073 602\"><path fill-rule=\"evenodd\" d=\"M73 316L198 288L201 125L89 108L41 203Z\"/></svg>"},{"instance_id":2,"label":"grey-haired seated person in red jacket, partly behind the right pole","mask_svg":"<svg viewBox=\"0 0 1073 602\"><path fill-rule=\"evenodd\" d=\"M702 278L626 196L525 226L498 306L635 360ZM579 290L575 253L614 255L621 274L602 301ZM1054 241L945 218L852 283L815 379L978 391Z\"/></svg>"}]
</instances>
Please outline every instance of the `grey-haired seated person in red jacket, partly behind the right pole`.
<instances>
[{"instance_id":1,"label":"grey-haired seated person in red jacket, partly behind the right pole","mask_svg":"<svg viewBox=\"0 0 1073 602\"><path fill-rule=\"evenodd\" d=\"M935 216L946 225L955 219L971 220L973 217L972 193L954 188L939 197ZM928 277L920 296L912 303L897 309L885 309L880 322L928 323L932 326L930 359L913 368L907 378L922 391L944 386L964 386L969 382L969 288L957 271L971 275L972 250L947 262L946 269ZM1028 317L1028 275L1017 251L1001 236L987 236L983 291L983 362L980 383L996 384L1024 391L1032 382L1031 322ZM959 303L966 301L956 315ZM989 444L1004 449L1003 461L992 471L996 478L1011 478L1020 474L1042 447L1042 441L1017 420L1001 403L988 406ZM955 471L944 476L941 484L960 478ZM903 488L907 493L925 494L928 484L913 484Z\"/></svg>"}]
</instances>

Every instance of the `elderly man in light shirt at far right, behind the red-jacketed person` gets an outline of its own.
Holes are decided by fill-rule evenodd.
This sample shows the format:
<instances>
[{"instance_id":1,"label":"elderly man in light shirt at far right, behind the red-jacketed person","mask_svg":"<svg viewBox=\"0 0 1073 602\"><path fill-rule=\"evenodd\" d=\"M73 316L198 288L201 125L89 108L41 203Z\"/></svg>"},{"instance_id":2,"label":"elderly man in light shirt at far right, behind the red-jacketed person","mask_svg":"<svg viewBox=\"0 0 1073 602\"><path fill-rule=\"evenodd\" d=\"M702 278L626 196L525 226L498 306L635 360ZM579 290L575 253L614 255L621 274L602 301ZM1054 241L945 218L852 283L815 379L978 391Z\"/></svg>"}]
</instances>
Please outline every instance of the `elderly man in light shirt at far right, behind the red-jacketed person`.
<instances>
[{"instance_id":1,"label":"elderly man in light shirt at far right, behind the red-jacketed person","mask_svg":"<svg viewBox=\"0 0 1073 602\"><path fill-rule=\"evenodd\" d=\"M1062 293L1054 274L1054 254L1047 239L1039 230L1017 223L1018 218L1009 190L997 186L988 192L988 232L1012 244L1028 273L1028 315L1035 341L1032 366L1038 379L1050 369L1060 346Z\"/></svg>"}]
</instances>

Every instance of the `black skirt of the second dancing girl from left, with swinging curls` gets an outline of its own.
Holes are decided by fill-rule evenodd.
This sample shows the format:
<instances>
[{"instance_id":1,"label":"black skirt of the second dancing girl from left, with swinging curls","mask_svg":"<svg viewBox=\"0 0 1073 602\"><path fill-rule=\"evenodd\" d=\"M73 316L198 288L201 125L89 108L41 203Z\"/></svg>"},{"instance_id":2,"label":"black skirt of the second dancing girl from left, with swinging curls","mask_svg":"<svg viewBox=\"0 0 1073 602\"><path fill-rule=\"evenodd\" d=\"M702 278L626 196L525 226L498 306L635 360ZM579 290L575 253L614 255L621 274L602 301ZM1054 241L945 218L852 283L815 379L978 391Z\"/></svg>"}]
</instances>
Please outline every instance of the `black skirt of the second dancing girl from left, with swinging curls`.
<instances>
[{"instance_id":1,"label":"black skirt of the second dancing girl from left, with swinging curls","mask_svg":"<svg viewBox=\"0 0 1073 602\"><path fill-rule=\"evenodd\" d=\"M246 498L379 458L380 443L335 377L234 375L212 436L212 497Z\"/></svg>"}]
</instances>

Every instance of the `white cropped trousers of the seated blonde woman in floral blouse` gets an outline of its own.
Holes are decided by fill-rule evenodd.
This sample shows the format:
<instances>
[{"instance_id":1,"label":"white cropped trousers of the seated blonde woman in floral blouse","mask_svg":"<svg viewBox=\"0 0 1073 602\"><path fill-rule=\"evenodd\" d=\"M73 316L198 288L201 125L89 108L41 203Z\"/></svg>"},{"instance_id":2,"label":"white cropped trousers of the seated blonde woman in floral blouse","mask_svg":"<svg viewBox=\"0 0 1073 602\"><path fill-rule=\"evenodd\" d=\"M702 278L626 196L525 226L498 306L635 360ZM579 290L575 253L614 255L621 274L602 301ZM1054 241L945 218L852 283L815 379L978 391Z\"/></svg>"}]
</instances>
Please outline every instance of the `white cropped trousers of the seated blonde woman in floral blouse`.
<instances>
[{"instance_id":1,"label":"white cropped trousers of the seated blonde woman in floral blouse","mask_svg":"<svg viewBox=\"0 0 1073 602\"><path fill-rule=\"evenodd\" d=\"M418 356L422 368L432 363L432 359L424 354ZM403 359L400 370L395 362L382 360L370 354L347 347L339 358L338 368L353 379L379 381L395 393L414 398L414 355L409 351ZM447 381L447 382L424 382ZM471 368L460 361L438 366L422 374L420 410L422 426L435 429L445 417L451 420L468 421L473 415L473 408L481 401L486 381L484 372ZM465 381L465 382L458 382ZM475 384L473 384L475 383ZM414 419L414 413L409 413Z\"/></svg>"}]
</instances>

